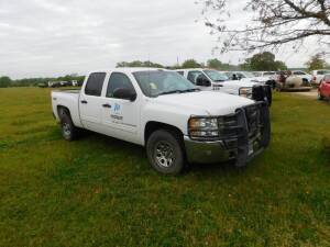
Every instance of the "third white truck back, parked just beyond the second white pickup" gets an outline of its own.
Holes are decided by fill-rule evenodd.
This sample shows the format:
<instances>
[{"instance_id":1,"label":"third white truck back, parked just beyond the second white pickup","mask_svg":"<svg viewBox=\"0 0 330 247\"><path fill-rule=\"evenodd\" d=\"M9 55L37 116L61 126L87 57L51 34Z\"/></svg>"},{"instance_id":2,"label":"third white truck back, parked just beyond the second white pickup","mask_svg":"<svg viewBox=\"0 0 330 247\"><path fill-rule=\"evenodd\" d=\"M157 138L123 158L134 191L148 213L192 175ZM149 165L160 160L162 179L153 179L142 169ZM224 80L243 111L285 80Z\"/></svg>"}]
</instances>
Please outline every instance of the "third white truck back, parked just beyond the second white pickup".
<instances>
[{"instance_id":1,"label":"third white truck back, parked just beyond the second white pickup","mask_svg":"<svg viewBox=\"0 0 330 247\"><path fill-rule=\"evenodd\" d=\"M244 81L251 81L251 82L257 82L262 85L267 85L271 88L275 88L275 80L270 78L268 76L260 77L255 76L250 71L226 71L224 72L231 80L244 80Z\"/></svg>"}]
</instances>

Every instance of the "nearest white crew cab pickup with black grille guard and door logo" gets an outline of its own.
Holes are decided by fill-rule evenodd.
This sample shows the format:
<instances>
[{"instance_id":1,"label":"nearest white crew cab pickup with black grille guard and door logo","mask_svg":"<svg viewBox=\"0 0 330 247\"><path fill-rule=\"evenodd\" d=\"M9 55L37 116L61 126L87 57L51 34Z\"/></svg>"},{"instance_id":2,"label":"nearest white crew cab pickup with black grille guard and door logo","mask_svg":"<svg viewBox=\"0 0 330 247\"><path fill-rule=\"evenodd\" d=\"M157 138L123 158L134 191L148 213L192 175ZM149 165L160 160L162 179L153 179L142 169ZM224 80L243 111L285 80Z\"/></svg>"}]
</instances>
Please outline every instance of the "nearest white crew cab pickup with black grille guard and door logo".
<instances>
[{"instance_id":1,"label":"nearest white crew cab pickup with black grille guard and door logo","mask_svg":"<svg viewBox=\"0 0 330 247\"><path fill-rule=\"evenodd\" d=\"M175 71L116 68L90 72L81 90L53 91L63 137L79 128L145 146L151 165L177 175L189 162L245 166L270 143L264 102L200 91Z\"/></svg>"}]
</instances>

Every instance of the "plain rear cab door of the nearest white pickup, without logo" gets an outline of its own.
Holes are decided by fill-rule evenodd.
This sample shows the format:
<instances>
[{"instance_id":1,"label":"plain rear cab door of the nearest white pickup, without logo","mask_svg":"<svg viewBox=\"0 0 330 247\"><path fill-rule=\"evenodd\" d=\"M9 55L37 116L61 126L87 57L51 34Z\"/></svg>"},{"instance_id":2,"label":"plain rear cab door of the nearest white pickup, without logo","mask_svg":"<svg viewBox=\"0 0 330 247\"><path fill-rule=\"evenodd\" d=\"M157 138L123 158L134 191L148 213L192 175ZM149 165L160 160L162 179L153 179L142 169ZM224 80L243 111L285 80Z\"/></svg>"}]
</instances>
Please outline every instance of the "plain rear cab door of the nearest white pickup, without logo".
<instances>
[{"instance_id":1,"label":"plain rear cab door of the nearest white pickup, without logo","mask_svg":"<svg viewBox=\"0 0 330 247\"><path fill-rule=\"evenodd\" d=\"M85 87L81 89L79 99L79 112L84 126L99 132L102 120L101 92L107 74L90 74Z\"/></svg>"}]
</instances>

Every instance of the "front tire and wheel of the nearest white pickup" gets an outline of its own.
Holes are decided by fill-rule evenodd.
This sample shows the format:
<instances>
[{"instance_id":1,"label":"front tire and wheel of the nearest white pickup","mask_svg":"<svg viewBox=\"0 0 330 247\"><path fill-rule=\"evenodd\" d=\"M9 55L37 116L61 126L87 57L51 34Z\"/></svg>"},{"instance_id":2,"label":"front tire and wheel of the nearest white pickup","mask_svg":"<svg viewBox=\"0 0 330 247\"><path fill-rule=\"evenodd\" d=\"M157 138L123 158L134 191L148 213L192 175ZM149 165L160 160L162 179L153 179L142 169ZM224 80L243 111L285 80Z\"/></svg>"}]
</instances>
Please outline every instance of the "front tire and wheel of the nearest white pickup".
<instances>
[{"instance_id":1,"label":"front tire and wheel of the nearest white pickup","mask_svg":"<svg viewBox=\"0 0 330 247\"><path fill-rule=\"evenodd\" d=\"M152 167L164 175L178 175L185 168L182 141L173 132L158 130L146 142L146 154Z\"/></svg>"}]
</instances>

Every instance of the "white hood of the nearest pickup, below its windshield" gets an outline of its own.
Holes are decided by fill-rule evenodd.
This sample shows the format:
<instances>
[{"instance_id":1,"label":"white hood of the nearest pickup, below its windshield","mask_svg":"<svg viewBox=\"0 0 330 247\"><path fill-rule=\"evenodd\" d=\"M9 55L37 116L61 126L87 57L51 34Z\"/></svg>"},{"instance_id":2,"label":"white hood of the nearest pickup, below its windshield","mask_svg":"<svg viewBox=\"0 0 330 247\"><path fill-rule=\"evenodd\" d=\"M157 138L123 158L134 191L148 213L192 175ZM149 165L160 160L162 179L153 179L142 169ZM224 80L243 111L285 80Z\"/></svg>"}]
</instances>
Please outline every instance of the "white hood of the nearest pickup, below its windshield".
<instances>
[{"instance_id":1,"label":"white hood of the nearest pickup, below its windshield","mask_svg":"<svg viewBox=\"0 0 330 247\"><path fill-rule=\"evenodd\" d=\"M227 115L237 109L253 104L254 101L222 92L198 91L160 96L154 102L164 106L174 106L186 114Z\"/></svg>"}]
</instances>

